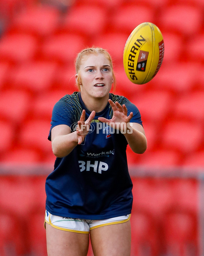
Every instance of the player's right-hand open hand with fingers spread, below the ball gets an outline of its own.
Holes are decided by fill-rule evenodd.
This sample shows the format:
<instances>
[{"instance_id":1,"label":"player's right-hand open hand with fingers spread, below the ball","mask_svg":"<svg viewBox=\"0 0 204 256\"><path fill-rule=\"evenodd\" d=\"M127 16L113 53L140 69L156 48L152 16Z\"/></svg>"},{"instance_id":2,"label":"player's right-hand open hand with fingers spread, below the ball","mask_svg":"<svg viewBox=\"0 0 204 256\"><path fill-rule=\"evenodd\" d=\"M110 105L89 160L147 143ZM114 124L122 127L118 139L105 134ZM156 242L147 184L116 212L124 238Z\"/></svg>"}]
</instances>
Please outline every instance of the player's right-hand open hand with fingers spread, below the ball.
<instances>
[{"instance_id":1,"label":"player's right-hand open hand with fingers spread, below the ball","mask_svg":"<svg viewBox=\"0 0 204 256\"><path fill-rule=\"evenodd\" d=\"M133 112L130 113L128 116L128 110L123 104L122 106L116 101L114 103L111 99L108 100L110 103L112 109L113 109L113 117L112 119L106 119L104 117L99 117L99 121L108 123L109 126L113 127L114 129L119 129L121 130L121 124L123 125L122 129L126 129L127 124L130 122L131 118L133 117ZM124 127L124 125L126 127Z\"/></svg>"}]
</instances>

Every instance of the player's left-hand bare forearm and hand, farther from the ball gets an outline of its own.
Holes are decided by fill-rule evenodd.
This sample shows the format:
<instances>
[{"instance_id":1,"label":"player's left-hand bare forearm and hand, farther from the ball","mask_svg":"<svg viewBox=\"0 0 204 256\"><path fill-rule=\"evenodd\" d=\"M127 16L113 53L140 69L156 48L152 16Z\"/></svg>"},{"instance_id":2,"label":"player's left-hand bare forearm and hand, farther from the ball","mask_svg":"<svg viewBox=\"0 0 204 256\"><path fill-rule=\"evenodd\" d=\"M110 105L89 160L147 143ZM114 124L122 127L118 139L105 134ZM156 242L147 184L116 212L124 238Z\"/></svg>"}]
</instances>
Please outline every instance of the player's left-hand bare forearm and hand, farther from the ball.
<instances>
[{"instance_id":1,"label":"player's left-hand bare forearm and hand, farther from the ball","mask_svg":"<svg viewBox=\"0 0 204 256\"><path fill-rule=\"evenodd\" d=\"M78 144L80 145L84 141L84 138L88 133L88 123L91 122L94 116L95 111L92 111L88 119L85 121L85 110L83 110L80 120L78 121L77 130L74 132L71 132L68 125L57 125L52 128L52 151L56 157L67 156L75 146Z\"/></svg>"}]
</instances>

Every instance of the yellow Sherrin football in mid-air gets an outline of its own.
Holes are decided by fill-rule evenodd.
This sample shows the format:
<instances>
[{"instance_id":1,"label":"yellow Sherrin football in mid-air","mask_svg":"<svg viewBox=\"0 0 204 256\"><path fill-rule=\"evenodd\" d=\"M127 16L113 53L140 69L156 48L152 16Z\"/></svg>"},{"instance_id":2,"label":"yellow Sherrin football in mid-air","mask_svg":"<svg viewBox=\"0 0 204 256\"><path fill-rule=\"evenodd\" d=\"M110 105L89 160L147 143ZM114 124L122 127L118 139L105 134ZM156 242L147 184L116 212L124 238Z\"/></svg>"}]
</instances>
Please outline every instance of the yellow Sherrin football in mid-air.
<instances>
[{"instance_id":1,"label":"yellow Sherrin football in mid-air","mask_svg":"<svg viewBox=\"0 0 204 256\"><path fill-rule=\"evenodd\" d=\"M138 25L126 41L123 66L134 84L148 83L159 71L164 58L164 40L156 25Z\"/></svg>"}]
</instances>

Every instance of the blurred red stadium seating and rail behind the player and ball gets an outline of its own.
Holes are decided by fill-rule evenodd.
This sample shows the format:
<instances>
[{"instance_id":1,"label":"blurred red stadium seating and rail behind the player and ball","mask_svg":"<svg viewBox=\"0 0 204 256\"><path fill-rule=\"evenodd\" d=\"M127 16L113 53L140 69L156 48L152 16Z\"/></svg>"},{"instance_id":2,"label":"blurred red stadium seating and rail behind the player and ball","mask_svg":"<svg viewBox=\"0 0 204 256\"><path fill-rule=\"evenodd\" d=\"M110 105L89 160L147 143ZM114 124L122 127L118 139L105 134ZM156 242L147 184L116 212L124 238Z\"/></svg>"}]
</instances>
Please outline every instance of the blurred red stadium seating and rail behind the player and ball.
<instances>
[{"instance_id":1,"label":"blurred red stadium seating and rail behind the player and ball","mask_svg":"<svg viewBox=\"0 0 204 256\"><path fill-rule=\"evenodd\" d=\"M116 94L142 115L148 149L128 148L131 256L204 255L204 0L0 1L0 255L45 256L47 140L54 103L75 88L74 59L106 48ZM152 81L134 85L123 48L142 22L163 33ZM92 255L91 247L89 256Z\"/></svg>"}]
</instances>

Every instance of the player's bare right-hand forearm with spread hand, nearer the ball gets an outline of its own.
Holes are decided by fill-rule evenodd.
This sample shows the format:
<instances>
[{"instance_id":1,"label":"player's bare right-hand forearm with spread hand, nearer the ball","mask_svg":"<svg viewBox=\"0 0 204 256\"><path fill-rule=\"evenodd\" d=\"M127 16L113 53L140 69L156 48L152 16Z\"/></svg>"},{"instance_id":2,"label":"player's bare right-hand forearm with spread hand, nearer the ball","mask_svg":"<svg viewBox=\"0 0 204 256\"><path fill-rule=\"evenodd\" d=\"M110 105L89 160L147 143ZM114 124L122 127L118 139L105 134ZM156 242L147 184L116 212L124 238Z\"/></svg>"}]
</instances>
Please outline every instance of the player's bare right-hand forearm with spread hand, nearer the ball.
<instances>
[{"instance_id":1,"label":"player's bare right-hand forearm with spread hand, nearer the ball","mask_svg":"<svg viewBox=\"0 0 204 256\"><path fill-rule=\"evenodd\" d=\"M112 100L108 100L113 109L112 119L106 119L104 117L99 117L98 119L101 122L108 123L111 127L119 129L125 136L128 144L130 145L133 152L137 154L142 154L147 149L147 140L145 137L145 131L140 124L130 123L131 118L133 117L133 112L129 116L126 106L122 106L116 101L114 103ZM121 125L123 124L123 125ZM124 127L125 126L125 127Z\"/></svg>"}]
</instances>

